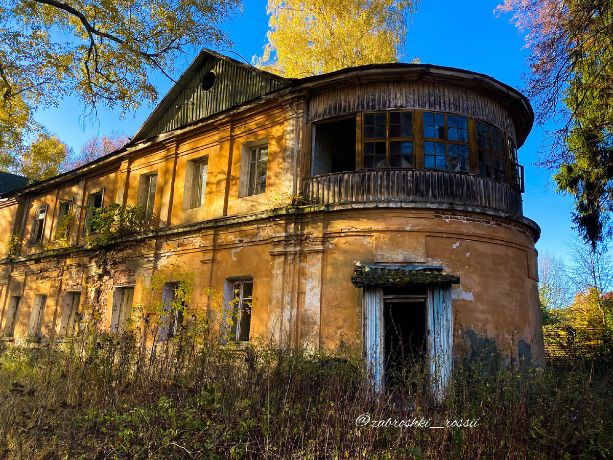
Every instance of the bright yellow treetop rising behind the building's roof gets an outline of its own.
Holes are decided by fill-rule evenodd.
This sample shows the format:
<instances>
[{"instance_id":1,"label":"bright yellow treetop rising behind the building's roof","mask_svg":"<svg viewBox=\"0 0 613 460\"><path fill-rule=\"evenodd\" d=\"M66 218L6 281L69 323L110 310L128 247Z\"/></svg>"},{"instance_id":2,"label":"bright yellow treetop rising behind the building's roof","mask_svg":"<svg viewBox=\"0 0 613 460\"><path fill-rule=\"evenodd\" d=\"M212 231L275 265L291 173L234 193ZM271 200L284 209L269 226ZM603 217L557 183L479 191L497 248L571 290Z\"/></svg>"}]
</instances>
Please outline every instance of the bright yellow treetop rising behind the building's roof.
<instances>
[{"instance_id":1,"label":"bright yellow treetop rising behind the building's roof","mask_svg":"<svg viewBox=\"0 0 613 460\"><path fill-rule=\"evenodd\" d=\"M264 55L256 66L289 78L398 61L411 0L269 0Z\"/></svg>"}]
</instances>

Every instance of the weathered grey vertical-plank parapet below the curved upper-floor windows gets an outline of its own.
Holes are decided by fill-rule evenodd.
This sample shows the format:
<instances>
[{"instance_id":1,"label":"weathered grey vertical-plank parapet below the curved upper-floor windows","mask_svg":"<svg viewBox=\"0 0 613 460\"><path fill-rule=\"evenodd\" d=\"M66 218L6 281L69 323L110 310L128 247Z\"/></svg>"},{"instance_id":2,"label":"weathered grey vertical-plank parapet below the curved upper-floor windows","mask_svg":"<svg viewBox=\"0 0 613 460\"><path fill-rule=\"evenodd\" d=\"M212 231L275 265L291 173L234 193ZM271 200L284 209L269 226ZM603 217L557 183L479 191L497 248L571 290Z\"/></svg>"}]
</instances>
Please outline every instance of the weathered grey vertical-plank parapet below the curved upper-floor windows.
<instances>
[{"instance_id":1,"label":"weathered grey vertical-plank parapet below the curved upper-floor windows","mask_svg":"<svg viewBox=\"0 0 613 460\"><path fill-rule=\"evenodd\" d=\"M425 203L522 215L521 193L510 186L466 172L432 169L373 169L308 177L303 196L316 204Z\"/></svg>"}]
</instances>

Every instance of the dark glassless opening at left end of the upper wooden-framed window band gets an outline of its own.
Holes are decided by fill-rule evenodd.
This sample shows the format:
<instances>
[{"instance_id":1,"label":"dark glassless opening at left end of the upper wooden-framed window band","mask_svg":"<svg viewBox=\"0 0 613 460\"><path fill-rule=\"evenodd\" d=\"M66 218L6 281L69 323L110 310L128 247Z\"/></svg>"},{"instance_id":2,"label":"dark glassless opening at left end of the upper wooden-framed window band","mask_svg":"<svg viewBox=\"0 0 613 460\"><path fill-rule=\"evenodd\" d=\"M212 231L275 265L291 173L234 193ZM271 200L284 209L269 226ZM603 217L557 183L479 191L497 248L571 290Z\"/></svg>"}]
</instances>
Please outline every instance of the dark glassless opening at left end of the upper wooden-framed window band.
<instances>
[{"instance_id":1,"label":"dark glassless opening at left end of the upper wooden-framed window band","mask_svg":"<svg viewBox=\"0 0 613 460\"><path fill-rule=\"evenodd\" d=\"M312 175L356 171L356 118L314 125Z\"/></svg>"}]
</instances>

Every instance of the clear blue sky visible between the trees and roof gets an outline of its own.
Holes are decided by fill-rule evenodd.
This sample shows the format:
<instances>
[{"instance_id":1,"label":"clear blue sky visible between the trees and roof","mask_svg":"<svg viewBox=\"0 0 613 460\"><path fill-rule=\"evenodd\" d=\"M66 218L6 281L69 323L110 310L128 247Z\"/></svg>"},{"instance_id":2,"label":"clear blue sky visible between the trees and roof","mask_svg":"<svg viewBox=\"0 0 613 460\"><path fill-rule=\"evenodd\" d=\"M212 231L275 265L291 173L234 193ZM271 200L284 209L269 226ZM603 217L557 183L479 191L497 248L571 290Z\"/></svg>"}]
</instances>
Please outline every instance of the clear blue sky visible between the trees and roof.
<instances>
[{"instance_id":1,"label":"clear blue sky visible between the trees and roof","mask_svg":"<svg viewBox=\"0 0 613 460\"><path fill-rule=\"evenodd\" d=\"M261 55L268 30L266 0L246 0L242 17L227 24L232 50L248 61ZM424 1L413 16L413 27L408 29L403 60L414 56L422 63L459 67L490 75L507 85L521 90L525 65L524 37L509 23L510 15L495 17L497 1ZM202 44L206 46L207 44ZM230 56L238 59L237 55ZM181 70L186 69L194 56L183 59ZM160 97L170 89L172 82L154 77ZM58 107L41 110L37 120L49 131L78 151L91 136L104 136L120 130L132 136L145 121L152 108L143 105L136 113L123 119L118 112L99 111L99 120L92 123L83 117L84 107L74 99L62 101ZM541 226L541 239L536 244L539 251L551 250L568 259L565 242L575 232L571 229L573 201L568 196L554 192L549 173L537 169L537 150L544 139L544 130L538 123L528 140L519 150L519 161L525 167L526 192L524 215Z\"/></svg>"}]
</instances>

